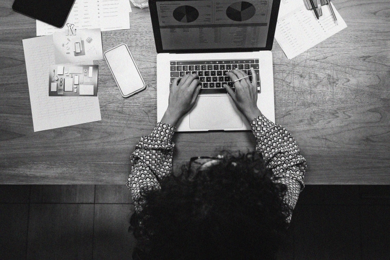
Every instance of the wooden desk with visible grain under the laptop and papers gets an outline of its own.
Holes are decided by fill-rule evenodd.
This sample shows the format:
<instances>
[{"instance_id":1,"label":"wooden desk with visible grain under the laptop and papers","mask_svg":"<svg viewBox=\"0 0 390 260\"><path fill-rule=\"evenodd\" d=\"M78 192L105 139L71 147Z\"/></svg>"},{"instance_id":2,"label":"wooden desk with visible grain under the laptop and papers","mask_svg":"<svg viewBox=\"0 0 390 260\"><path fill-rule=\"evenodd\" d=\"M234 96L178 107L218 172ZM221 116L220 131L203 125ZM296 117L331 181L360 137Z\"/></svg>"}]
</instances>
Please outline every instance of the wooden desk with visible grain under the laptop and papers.
<instances>
[{"instance_id":1,"label":"wooden desk with visible grain under the laptop and papers","mask_svg":"<svg viewBox=\"0 0 390 260\"><path fill-rule=\"evenodd\" d=\"M156 52L149 10L131 29L102 32L103 50L126 43L147 89L123 98L98 61L102 121L34 132L22 39L35 21L0 3L0 183L124 184L129 157L157 122ZM275 41L276 121L307 159L306 184L390 184L390 1L335 0L348 28L288 60ZM222 149L253 150L249 131L176 133L174 166Z\"/></svg>"}]
</instances>

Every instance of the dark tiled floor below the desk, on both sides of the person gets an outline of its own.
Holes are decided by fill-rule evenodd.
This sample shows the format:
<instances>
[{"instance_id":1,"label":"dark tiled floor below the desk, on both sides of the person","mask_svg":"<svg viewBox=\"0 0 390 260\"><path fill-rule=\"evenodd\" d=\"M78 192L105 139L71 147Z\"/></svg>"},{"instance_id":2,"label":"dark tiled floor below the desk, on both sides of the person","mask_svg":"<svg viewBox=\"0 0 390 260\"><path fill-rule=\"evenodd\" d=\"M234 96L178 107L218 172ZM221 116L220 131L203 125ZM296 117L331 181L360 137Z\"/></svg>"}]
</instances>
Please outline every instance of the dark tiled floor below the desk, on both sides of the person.
<instances>
[{"instance_id":1,"label":"dark tiled floor below the desk, on both sides of the person","mask_svg":"<svg viewBox=\"0 0 390 260\"><path fill-rule=\"evenodd\" d=\"M0 259L130 259L134 207L115 185L0 186ZM310 186L278 259L390 259L390 186Z\"/></svg>"}]
</instances>

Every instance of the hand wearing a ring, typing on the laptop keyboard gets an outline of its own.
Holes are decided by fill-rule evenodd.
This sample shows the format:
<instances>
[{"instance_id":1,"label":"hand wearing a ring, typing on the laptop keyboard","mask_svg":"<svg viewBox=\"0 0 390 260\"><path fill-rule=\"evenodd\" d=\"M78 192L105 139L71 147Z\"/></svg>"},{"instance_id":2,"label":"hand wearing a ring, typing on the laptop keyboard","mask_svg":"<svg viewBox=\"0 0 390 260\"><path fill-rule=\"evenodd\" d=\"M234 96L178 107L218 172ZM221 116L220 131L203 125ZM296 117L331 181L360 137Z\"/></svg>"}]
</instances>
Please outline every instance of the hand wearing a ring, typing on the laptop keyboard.
<instances>
[{"instance_id":1,"label":"hand wearing a ring, typing on the laptop keyboard","mask_svg":"<svg viewBox=\"0 0 390 260\"><path fill-rule=\"evenodd\" d=\"M227 84L224 84L224 88L227 93L229 93L237 108L245 115L249 122L261 115L261 111L257 107L257 75L253 68L250 68L250 71L252 75L252 82L249 81L249 77L246 77L247 74L239 69L226 72L232 82L236 81L234 83L236 92ZM243 79L237 81L239 78Z\"/></svg>"}]
</instances>

